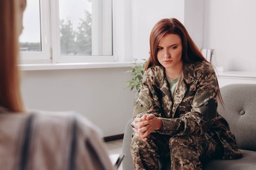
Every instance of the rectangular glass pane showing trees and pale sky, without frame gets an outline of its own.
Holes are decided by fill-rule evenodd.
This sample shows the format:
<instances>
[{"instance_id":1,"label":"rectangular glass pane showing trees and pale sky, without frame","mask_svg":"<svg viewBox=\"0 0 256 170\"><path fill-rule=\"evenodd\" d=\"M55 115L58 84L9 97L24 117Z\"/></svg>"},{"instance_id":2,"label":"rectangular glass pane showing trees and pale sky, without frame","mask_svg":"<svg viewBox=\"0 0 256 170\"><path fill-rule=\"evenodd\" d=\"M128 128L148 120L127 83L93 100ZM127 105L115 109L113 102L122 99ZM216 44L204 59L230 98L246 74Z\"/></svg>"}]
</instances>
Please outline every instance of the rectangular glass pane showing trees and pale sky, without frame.
<instances>
[{"instance_id":1,"label":"rectangular glass pane showing trees and pale sky, without frame","mask_svg":"<svg viewBox=\"0 0 256 170\"><path fill-rule=\"evenodd\" d=\"M80 10L79 16L74 15L74 12L66 12L67 5L74 6L74 1L60 1L60 54L61 56L91 56L92 1L79 1L77 4ZM78 10L77 8L73 10Z\"/></svg>"}]
</instances>

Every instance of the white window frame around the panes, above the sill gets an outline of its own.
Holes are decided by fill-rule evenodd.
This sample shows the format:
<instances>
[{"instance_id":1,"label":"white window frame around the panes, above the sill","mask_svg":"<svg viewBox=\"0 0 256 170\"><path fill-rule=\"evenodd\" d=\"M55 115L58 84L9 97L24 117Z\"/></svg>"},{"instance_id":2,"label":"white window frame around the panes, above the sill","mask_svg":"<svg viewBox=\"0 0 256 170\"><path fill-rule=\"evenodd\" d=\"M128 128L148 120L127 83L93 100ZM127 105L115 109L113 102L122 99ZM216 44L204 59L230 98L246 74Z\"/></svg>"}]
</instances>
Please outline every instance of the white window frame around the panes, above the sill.
<instances>
[{"instance_id":1,"label":"white window frame around the panes, above the sill","mask_svg":"<svg viewBox=\"0 0 256 170\"><path fill-rule=\"evenodd\" d=\"M104 3L111 3L111 10L114 10L113 1L108 0L93 0L96 3L93 3L93 10L95 10L98 5L98 8L106 7ZM59 1L51 1L51 0L39 0L40 3L40 20L41 20L41 52L20 52L20 63L21 64L40 64L40 63L84 63L84 62L114 62L117 61L117 58L114 53L114 16L111 11L112 17L110 20L106 20L107 14L109 10L99 10L103 12L102 14L93 15L92 20L98 20L97 23L104 24L106 22L110 22L112 24L111 31L111 39L112 39L112 55L110 56L61 56L60 55L60 19L59 19ZM102 18L100 18L102 16ZM93 30L97 30L95 35L108 35L106 31L108 29L95 29L96 25L93 25ZM100 26L99 26L100 27ZM92 35L93 37L93 35ZM98 36L100 37L100 36ZM96 37L93 40L93 44L95 49L102 48L102 44L98 42L104 41L106 37L101 37L100 39ZM109 37L108 37L109 39ZM93 45L92 44L92 45ZM93 50L93 49L92 49ZM102 48L104 50L104 48Z\"/></svg>"}]
</instances>

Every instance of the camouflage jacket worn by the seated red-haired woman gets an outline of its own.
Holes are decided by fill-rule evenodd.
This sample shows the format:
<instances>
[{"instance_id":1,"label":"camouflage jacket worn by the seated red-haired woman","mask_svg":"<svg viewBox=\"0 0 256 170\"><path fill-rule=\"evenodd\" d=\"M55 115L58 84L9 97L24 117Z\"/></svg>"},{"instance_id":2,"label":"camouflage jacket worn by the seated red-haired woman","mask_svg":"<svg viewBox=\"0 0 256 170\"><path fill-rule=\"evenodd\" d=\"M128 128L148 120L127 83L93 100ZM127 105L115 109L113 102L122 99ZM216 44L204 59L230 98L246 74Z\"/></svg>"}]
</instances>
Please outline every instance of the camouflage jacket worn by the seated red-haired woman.
<instances>
[{"instance_id":1,"label":"camouflage jacket worn by the seated red-haired woman","mask_svg":"<svg viewBox=\"0 0 256 170\"><path fill-rule=\"evenodd\" d=\"M205 135L209 139L217 134L224 147L223 158L240 158L228 123L217 112L217 90L211 64L186 63L172 98L164 68L153 66L144 73L133 117L150 113L161 117L163 127L156 133L165 135Z\"/></svg>"}]
</instances>

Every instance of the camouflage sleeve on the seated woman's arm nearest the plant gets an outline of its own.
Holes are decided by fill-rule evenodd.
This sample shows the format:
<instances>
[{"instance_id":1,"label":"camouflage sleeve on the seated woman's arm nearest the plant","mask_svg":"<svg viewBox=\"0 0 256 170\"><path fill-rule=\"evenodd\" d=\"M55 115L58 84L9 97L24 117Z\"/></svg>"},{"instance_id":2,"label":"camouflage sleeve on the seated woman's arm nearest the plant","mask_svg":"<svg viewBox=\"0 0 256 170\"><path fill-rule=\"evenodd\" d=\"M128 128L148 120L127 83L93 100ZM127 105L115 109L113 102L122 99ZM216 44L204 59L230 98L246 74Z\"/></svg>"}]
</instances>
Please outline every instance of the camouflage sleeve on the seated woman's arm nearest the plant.
<instances>
[{"instance_id":1,"label":"camouflage sleeve on the seated woman's arm nearest the plant","mask_svg":"<svg viewBox=\"0 0 256 170\"><path fill-rule=\"evenodd\" d=\"M137 97L137 100L135 101L133 118L141 117L144 114L155 114L158 117L160 116L160 111L158 107L156 107L154 99L152 97L152 90L148 85L150 84L149 82L150 80L148 80L148 75L145 72L142 78L139 95Z\"/></svg>"}]
</instances>

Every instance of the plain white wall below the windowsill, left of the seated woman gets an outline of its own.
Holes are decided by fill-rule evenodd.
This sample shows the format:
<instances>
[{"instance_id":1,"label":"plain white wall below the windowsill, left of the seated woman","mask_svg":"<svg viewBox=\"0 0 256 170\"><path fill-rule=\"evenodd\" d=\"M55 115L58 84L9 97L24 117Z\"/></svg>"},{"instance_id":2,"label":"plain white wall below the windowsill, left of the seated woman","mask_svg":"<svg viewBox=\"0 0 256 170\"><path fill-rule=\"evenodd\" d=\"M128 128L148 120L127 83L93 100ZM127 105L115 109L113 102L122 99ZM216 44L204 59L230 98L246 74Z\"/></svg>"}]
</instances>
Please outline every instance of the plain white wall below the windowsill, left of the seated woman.
<instances>
[{"instance_id":1,"label":"plain white wall below the windowsill, left of the seated woman","mask_svg":"<svg viewBox=\"0 0 256 170\"><path fill-rule=\"evenodd\" d=\"M123 133L133 115L135 93L125 89L129 67L23 71L28 109L75 110L102 129L104 137Z\"/></svg>"}]
</instances>

